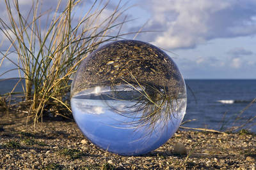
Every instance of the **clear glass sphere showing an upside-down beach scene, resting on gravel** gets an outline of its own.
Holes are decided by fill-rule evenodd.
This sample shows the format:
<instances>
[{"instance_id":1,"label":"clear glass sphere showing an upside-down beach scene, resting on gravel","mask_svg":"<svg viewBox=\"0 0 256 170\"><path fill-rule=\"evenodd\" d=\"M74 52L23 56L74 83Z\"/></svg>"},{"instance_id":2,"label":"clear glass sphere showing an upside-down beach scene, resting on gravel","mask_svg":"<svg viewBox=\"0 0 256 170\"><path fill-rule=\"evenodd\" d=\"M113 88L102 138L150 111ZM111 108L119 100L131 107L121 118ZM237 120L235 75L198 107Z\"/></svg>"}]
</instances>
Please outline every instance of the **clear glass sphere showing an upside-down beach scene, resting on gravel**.
<instances>
[{"instance_id":1,"label":"clear glass sphere showing an upside-down beach scene, resting on gravel","mask_svg":"<svg viewBox=\"0 0 256 170\"><path fill-rule=\"evenodd\" d=\"M163 50L122 40L90 53L71 87L72 114L84 136L119 155L163 145L186 113L186 85Z\"/></svg>"}]
</instances>

